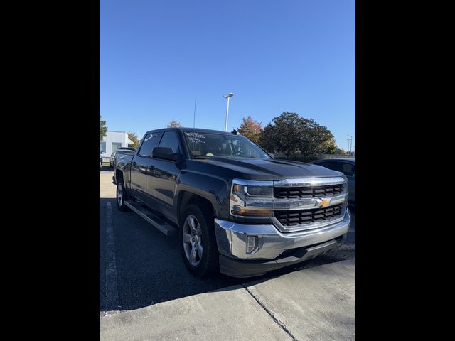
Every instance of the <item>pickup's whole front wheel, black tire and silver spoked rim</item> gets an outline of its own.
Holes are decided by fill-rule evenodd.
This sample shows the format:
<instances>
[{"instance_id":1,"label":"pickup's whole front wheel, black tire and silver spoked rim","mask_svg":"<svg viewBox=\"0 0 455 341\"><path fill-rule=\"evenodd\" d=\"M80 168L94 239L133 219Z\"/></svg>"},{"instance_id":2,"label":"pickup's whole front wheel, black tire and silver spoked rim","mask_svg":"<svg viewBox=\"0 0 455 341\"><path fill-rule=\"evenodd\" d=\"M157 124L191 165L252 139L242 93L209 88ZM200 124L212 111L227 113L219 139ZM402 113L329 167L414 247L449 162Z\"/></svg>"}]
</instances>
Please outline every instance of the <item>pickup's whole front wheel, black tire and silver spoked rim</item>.
<instances>
[{"instance_id":1,"label":"pickup's whole front wheel, black tire and silver spoked rim","mask_svg":"<svg viewBox=\"0 0 455 341\"><path fill-rule=\"evenodd\" d=\"M183 262L195 276L203 277L218 270L218 247L210 210L188 205L179 227Z\"/></svg>"}]
</instances>

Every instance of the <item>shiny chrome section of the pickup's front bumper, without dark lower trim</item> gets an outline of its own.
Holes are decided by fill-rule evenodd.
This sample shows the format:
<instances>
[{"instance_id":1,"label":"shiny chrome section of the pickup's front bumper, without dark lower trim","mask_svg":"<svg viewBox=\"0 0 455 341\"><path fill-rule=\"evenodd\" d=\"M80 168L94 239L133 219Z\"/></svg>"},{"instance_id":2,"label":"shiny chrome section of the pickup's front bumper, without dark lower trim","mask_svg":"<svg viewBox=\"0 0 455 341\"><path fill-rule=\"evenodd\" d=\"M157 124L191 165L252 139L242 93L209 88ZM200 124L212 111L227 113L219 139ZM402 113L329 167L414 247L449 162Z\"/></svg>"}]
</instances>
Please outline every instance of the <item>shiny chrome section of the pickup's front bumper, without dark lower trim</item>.
<instances>
[{"instance_id":1,"label":"shiny chrome section of the pickup's front bumper, without dark lower trim","mask_svg":"<svg viewBox=\"0 0 455 341\"><path fill-rule=\"evenodd\" d=\"M328 224L319 229L306 229L300 232L282 233L273 224L237 224L215 219L215 233L218 251L224 256L242 260L276 259L289 249L308 247L336 239L348 232L350 227L349 210L343 220ZM247 252L247 237L257 236L257 247Z\"/></svg>"}]
</instances>

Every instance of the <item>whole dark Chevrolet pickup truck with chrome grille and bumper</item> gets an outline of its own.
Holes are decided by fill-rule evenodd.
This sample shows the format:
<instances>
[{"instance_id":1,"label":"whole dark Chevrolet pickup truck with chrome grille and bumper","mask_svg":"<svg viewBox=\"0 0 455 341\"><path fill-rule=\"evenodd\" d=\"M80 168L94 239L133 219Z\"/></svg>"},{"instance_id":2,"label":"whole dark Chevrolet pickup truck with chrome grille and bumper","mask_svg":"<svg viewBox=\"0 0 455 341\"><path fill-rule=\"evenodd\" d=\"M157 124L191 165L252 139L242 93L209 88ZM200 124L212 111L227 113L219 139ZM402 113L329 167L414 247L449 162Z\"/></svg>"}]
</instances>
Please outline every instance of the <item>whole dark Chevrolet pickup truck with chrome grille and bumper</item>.
<instances>
[{"instance_id":1,"label":"whole dark Chevrolet pickup truck with chrome grille and bumper","mask_svg":"<svg viewBox=\"0 0 455 341\"><path fill-rule=\"evenodd\" d=\"M147 131L136 153L117 152L113 181L119 210L178 233L196 276L265 274L338 247L350 227L343 173L274 159L235 133Z\"/></svg>"}]
</instances>

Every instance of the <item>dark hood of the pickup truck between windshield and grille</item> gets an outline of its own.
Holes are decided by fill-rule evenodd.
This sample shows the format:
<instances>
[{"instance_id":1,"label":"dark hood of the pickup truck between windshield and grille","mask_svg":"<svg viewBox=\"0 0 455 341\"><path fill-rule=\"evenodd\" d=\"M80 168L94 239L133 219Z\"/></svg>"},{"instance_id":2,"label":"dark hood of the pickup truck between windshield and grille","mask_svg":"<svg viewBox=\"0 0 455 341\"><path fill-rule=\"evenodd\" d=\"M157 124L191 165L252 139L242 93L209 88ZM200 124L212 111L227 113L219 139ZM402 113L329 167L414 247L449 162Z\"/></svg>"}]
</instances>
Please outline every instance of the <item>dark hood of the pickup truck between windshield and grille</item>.
<instances>
[{"instance_id":1,"label":"dark hood of the pickup truck between windshield and grille","mask_svg":"<svg viewBox=\"0 0 455 341\"><path fill-rule=\"evenodd\" d=\"M242 178L250 180L277 181L285 178L319 178L343 175L343 173L311 163L273 158L232 159L213 156L197 161L241 173Z\"/></svg>"}]
</instances>

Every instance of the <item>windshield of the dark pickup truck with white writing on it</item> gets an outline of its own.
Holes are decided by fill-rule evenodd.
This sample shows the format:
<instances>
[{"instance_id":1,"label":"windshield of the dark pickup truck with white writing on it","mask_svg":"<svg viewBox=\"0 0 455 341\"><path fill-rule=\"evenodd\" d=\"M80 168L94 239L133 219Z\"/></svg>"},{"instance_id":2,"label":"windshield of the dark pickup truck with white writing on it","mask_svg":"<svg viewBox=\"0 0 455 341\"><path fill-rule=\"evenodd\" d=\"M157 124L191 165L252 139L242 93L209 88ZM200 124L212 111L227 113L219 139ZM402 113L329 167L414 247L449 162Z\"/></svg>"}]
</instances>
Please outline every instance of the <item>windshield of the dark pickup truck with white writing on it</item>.
<instances>
[{"instance_id":1,"label":"windshield of the dark pickup truck with white writing on it","mask_svg":"<svg viewBox=\"0 0 455 341\"><path fill-rule=\"evenodd\" d=\"M193 158L271 158L257 144L244 136L229 134L184 132L189 151Z\"/></svg>"}]
</instances>

